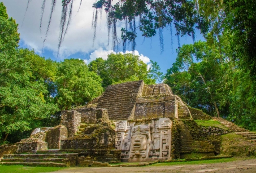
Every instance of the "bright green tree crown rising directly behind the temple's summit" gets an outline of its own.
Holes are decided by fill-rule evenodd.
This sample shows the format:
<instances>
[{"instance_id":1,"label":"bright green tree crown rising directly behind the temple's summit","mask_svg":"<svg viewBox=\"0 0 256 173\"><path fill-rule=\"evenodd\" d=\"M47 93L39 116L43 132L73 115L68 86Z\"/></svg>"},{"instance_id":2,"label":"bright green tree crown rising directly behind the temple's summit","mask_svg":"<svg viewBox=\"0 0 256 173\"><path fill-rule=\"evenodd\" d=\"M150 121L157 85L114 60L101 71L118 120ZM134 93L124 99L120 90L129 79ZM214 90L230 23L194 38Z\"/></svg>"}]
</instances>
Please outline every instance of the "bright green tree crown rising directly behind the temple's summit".
<instances>
[{"instance_id":1,"label":"bright green tree crown rising directly behind the temple's summit","mask_svg":"<svg viewBox=\"0 0 256 173\"><path fill-rule=\"evenodd\" d=\"M103 87L138 80L144 80L147 84L155 83L155 79L148 77L147 64L138 57L132 54L110 54L107 60L97 58L88 66L91 71L101 76Z\"/></svg>"}]
</instances>

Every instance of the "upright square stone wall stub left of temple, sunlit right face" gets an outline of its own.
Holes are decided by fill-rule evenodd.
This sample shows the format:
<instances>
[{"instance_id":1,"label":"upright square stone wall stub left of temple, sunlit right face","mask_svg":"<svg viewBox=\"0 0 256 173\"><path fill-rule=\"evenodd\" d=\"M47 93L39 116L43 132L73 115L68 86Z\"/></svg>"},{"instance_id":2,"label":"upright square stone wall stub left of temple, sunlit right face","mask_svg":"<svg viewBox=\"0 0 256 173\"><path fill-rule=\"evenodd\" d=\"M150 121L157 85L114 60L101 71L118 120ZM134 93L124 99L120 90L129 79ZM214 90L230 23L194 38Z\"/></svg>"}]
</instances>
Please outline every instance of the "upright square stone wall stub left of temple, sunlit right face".
<instances>
[{"instance_id":1,"label":"upright square stone wall stub left of temple, sunlit right face","mask_svg":"<svg viewBox=\"0 0 256 173\"><path fill-rule=\"evenodd\" d=\"M68 137L73 137L79 131L81 123L81 113L75 110L62 111L62 121L60 125L64 125L68 130Z\"/></svg>"}]
</instances>

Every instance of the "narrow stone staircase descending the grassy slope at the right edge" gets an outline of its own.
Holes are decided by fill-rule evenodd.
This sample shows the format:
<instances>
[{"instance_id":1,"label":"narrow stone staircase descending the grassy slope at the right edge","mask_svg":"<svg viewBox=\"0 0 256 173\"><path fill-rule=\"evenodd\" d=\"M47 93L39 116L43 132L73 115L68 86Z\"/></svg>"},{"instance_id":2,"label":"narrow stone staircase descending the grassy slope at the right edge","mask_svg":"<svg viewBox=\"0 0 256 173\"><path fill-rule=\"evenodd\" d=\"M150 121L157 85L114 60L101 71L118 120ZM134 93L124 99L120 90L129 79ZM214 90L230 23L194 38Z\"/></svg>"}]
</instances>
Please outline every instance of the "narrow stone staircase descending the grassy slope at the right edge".
<instances>
[{"instance_id":1,"label":"narrow stone staircase descending the grassy slope at the right edge","mask_svg":"<svg viewBox=\"0 0 256 173\"><path fill-rule=\"evenodd\" d=\"M220 123L222 123L222 125L228 127L229 130L231 130L232 132L235 132L235 134L241 135L242 137L244 137L251 143L256 144L256 133L255 132L250 132L249 130L239 127L239 126L235 125L235 123L227 121L223 118L213 117L212 119L219 121Z\"/></svg>"}]
</instances>

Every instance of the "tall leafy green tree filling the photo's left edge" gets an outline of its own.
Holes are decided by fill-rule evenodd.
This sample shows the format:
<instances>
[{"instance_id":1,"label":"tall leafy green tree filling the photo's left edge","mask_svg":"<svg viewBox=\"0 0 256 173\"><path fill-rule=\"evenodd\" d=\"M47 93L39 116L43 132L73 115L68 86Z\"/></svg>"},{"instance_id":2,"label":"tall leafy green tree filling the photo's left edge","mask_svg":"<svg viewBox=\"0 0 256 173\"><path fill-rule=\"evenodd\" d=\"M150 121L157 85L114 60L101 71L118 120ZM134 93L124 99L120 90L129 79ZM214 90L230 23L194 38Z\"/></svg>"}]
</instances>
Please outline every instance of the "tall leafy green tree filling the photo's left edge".
<instances>
[{"instance_id":1,"label":"tall leafy green tree filling the photo's left edge","mask_svg":"<svg viewBox=\"0 0 256 173\"><path fill-rule=\"evenodd\" d=\"M34 119L46 118L58 108L46 103L47 88L33 78L23 50L18 49L18 25L8 18L3 3L0 15L0 137L5 142L9 134L30 130Z\"/></svg>"}]
</instances>

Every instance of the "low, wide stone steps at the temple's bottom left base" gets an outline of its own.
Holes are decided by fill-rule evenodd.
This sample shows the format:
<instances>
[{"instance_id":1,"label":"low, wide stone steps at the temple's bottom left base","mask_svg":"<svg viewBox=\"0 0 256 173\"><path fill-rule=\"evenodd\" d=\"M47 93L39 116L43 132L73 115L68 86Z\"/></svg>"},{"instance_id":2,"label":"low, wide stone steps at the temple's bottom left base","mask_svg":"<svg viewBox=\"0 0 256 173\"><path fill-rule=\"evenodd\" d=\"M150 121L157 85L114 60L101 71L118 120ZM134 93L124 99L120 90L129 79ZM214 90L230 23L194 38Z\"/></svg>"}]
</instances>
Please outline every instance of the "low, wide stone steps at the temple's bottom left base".
<instances>
[{"instance_id":1,"label":"low, wide stone steps at the temple's bottom left base","mask_svg":"<svg viewBox=\"0 0 256 173\"><path fill-rule=\"evenodd\" d=\"M39 151L38 151L39 152ZM77 153L69 154L6 154L3 155L1 165L24 166L50 166L66 167L75 166Z\"/></svg>"}]
</instances>

